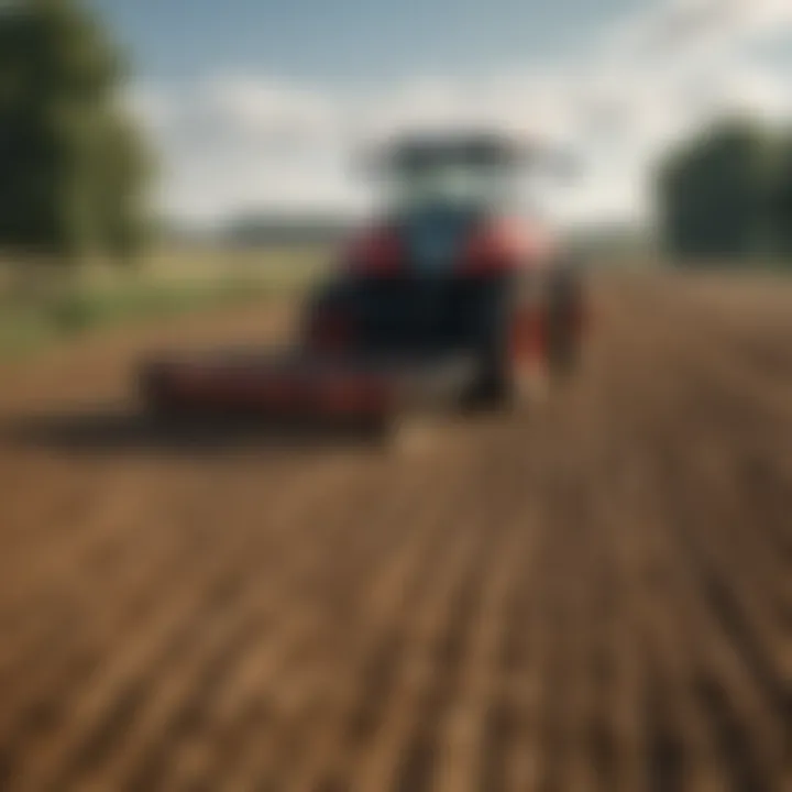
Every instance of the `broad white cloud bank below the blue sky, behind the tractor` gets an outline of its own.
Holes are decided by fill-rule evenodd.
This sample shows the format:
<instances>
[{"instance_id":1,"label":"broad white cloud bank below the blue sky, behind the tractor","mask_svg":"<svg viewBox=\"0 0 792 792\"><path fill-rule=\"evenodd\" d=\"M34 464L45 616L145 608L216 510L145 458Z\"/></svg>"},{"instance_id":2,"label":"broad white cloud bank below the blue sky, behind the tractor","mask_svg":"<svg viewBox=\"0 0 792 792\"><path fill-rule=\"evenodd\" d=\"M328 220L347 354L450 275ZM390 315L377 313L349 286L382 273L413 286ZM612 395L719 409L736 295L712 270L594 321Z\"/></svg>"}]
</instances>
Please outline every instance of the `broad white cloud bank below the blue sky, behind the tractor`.
<instances>
[{"instance_id":1,"label":"broad white cloud bank below the blue sky, behind the tractor","mask_svg":"<svg viewBox=\"0 0 792 792\"><path fill-rule=\"evenodd\" d=\"M376 95L252 74L138 88L131 106L162 151L162 202L202 220L242 208L358 207L362 140L414 127L493 123L580 153L568 219L640 217L658 154L718 113L792 119L784 74L756 54L792 41L792 0L670 0L617 21L583 56L481 80L427 77Z\"/></svg>"}]
</instances>

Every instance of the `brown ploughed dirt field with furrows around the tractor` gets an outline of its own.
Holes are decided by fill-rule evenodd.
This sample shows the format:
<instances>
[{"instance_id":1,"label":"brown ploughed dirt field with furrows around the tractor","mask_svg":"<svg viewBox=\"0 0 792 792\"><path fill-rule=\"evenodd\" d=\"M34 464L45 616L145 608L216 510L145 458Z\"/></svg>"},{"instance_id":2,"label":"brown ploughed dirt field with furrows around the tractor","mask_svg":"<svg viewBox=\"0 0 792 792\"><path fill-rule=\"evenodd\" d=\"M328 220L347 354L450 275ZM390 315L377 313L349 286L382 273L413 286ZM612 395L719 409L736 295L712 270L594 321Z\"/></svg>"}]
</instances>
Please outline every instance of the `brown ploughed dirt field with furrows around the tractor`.
<instances>
[{"instance_id":1,"label":"brown ploughed dirt field with furrows around the tractor","mask_svg":"<svg viewBox=\"0 0 792 792\"><path fill-rule=\"evenodd\" d=\"M0 370L0 789L792 788L792 283L595 297L529 419L397 453L123 418L250 309Z\"/></svg>"}]
</instances>

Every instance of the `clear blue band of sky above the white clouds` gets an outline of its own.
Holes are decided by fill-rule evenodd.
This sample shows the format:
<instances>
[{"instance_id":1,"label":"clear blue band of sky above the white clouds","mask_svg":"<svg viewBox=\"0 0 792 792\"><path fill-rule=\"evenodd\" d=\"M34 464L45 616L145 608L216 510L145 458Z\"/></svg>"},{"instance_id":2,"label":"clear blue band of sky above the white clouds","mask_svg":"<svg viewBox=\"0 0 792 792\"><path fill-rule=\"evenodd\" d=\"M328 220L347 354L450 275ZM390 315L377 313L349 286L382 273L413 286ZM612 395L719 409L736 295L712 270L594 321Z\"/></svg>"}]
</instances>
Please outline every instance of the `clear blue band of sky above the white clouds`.
<instances>
[{"instance_id":1,"label":"clear blue band of sky above the white clouds","mask_svg":"<svg viewBox=\"0 0 792 792\"><path fill-rule=\"evenodd\" d=\"M563 58L641 0L94 0L152 78L366 84ZM644 3L646 4L646 3Z\"/></svg>"}]
</instances>

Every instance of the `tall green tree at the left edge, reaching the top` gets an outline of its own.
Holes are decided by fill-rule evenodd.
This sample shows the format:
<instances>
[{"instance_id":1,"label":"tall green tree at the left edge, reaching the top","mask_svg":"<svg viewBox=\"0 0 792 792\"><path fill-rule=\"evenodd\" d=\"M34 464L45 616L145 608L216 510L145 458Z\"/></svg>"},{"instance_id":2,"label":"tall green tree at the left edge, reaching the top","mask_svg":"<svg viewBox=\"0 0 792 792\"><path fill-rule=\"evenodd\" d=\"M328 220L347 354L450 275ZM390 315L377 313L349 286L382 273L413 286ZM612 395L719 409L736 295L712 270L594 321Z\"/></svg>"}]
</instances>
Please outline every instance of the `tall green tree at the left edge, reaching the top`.
<instances>
[{"instance_id":1,"label":"tall green tree at the left edge, reaching the top","mask_svg":"<svg viewBox=\"0 0 792 792\"><path fill-rule=\"evenodd\" d=\"M148 168L123 77L79 0L0 10L0 248L75 257L140 244Z\"/></svg>"}]
</instances>

